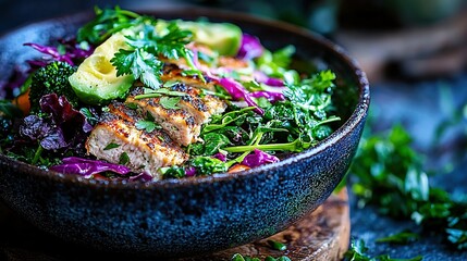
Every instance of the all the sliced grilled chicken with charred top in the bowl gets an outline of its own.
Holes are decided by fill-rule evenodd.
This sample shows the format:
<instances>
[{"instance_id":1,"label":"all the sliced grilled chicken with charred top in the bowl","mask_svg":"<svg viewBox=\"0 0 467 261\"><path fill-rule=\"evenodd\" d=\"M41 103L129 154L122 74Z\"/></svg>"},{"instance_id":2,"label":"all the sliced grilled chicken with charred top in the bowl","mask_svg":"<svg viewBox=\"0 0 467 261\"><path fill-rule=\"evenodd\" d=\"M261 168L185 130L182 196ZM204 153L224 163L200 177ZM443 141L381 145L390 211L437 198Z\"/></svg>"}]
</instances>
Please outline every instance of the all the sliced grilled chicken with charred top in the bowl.
<instances>
[{"instance_id":1,"label":"all the sliced grilled chicken with charred top in the bowl","mask_svg":"<svg viewBox=\"0 0 467 261\"><path fill-rule=\"evenodd\" d=\"M112 163L121 163L122 153L126 153L128 167L135 172L147 171L156 178L160 178L159 167L181 165L188 160L182 146L199 141L201 125L213 114L222 113L226 104L214 96L202 94L200 87L210 88L209 83L197 82L197 77L184 76L179 69L176 71L180 77L170 80L180 83L170 89L184 92L176 103L177 109L165 108L160 102L164 96L136 99L144 94L144 88L134 87L125 103L113 102L102 114L86 142L88 153ZM162 77L165 80L167 75ZM210 84L213 88L214 83ZM137 128L138 121L148 121L148 115L158 126L150 133ZM109 144L118 147L106 149Z\"/></svg>"}]
</instances>

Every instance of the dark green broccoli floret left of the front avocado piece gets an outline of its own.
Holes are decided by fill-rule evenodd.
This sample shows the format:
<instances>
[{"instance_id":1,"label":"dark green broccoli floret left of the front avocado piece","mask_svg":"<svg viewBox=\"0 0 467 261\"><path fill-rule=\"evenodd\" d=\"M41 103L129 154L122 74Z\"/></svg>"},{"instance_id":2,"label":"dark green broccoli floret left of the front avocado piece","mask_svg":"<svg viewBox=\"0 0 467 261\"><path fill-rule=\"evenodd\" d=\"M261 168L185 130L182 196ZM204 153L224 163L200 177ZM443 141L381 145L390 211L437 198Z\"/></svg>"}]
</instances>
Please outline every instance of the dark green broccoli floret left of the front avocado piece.
<instances>
[{"instance_id":1,"label":"dark green broccoli floret left of the front avocado piece","mask_svg":"<svg viewBox=\"0 0 467 261\"><path fill-rule=\"evenodd\" d=\"M52 62L37 70L30 83L30 111L40 111L39 100L42 96L48 94L65 96L66 100L69 100L74 108L77 108L79 100L69 82L70 75L74 72L76 72L76 67L65 62Z\"/></svg>"}]
</instances>

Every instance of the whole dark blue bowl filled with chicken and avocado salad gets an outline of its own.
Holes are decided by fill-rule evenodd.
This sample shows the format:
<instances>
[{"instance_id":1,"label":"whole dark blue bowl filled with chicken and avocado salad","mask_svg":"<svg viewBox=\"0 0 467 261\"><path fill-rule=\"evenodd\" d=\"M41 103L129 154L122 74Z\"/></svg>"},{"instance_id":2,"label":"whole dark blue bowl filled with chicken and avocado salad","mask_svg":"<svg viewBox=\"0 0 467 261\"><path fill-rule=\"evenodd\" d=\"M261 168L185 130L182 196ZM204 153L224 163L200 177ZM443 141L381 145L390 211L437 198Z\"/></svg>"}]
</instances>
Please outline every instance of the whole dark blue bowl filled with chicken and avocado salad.
<instances>
[{"instance_id":1,"label":"whole dark blue bowl filled with chicken and avocado salad","mask_svg":"<svg viewBox=\"0 0 467 261\"><path fill-rule=\"evenodd\" d=\"M206 9L96 10L0 38L0 197L103 251L183 257L273 235L346 173L365 74L305 29Z\"/></svg>"}]
</instances>

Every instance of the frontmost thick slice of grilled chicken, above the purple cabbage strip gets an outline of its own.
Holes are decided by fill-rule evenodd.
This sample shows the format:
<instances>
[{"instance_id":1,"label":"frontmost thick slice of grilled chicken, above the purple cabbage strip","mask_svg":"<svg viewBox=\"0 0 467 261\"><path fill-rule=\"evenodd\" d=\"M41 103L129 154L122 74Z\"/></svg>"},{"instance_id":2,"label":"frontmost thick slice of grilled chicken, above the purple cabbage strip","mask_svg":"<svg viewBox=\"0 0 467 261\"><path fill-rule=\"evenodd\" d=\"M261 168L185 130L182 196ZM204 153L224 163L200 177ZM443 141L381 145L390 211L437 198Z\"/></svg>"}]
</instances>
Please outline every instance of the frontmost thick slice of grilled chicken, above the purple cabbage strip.
<instances>
[{"instance_id":1,"label":"frontmost thick slice of grilled chicken, above the purple cabbage strip","mask_svg":"<svg viewBox=\"0 0 467 261\"><path fill-rule=\"evenodd\" d=\"M122 159L126 158L122 154L126 154L125 165L134 172L146 171L156 179L160 178L159 167L180 165L188 159L165 132L138 129L136 123L142 117L137 110L120 102L109 105L109 109L86 141L88 153L112 163L122 163Z\"/></svg>"}]
</instances>

